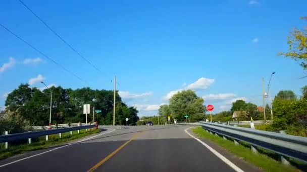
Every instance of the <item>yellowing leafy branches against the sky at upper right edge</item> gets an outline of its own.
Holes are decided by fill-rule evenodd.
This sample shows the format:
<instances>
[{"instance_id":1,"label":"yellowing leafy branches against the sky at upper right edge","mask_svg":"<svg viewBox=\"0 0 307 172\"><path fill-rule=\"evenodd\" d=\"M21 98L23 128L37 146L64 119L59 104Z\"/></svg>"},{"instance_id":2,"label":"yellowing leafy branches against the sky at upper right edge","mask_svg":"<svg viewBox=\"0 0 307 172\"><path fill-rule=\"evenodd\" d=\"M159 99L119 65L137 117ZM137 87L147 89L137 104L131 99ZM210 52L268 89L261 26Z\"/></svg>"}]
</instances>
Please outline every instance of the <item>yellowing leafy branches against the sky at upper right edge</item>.
<instances>
[{"instance_id":1,"label":"yellowing leafy branches against the sky at upper right edge","mask_svg":"<svg viewBox=\"0 0 307 172\"><path fill-rule=\"evenodd\" d=\"M307 21L307 17L301 17L301 19ZM291 57L294 60L300 61L300 65L303 69L307 70L307 27L304 27L302 30L295 28L287 39L289 52L279 53L279 55Z\"/></svg>"}]
</instances>

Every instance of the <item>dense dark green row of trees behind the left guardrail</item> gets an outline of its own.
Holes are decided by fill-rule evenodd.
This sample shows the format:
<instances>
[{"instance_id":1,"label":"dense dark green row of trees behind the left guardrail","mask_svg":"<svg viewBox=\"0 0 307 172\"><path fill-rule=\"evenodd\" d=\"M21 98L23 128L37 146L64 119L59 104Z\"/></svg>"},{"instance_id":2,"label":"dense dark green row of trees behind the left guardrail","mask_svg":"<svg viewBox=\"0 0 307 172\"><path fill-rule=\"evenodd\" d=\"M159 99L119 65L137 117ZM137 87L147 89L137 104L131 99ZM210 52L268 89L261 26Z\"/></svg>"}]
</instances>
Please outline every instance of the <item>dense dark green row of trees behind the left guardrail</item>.
<instances>
[{"instance_id":1,"label":"dense dark green row of trees behind the left guardrail","mask_svg":"<svg viewBox=\"0 0 307 172\"><path fill-rule=\"evenodd\" d=\"M29 84L20 84L17 89L7 97L5 105L10 117L20 122L27 121L30 125L47 125L50 113L50 95L52 100L52 123L76 123L85 122L83 104L90 104L92 108L101 110L95 114L95 121L102 125L113 124L113 91L92 90L82 88L77 90L52 87L42 92L37 88L30 88ZM116 93L116 125L128 123L135 125L138 121L138 111L134 107L128 107ZM88 122L92 121L92 114L87 116Z\"/></svg>"}]
</instances>

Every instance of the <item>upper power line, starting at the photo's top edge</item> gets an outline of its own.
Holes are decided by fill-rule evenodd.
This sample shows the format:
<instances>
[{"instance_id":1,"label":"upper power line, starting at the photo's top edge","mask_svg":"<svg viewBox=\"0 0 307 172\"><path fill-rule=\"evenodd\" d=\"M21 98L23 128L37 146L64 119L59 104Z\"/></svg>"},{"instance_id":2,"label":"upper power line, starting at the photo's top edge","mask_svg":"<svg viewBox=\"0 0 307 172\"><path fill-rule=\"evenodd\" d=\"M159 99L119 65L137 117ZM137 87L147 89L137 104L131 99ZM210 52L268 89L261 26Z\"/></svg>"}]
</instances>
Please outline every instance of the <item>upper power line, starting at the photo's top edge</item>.
<instances>
[{"instance_id":1,"label":"upper power line, starting at the photo's top edge","mask_svg":"<svg viewBox=\"0 0 307 172\"><path fill-rule=\"evenodd\" d=\"M89 65L91 65L94 69L99 71L100 73L103 73L100 69L98 69L95 65L93 65L89 60L87 60L83 55L81 55L76 49L74 49L70 44L68 44L58 33L56 33L52 28L50 28L46 22L44 22L40 17L38 17L24 2L19 0L19 2L27 8L41 23L43 23L52 33L54 33L62 42L64 42L71 50L73 50L75 53L77 53L83 60L85 60ZM105 74L106 75L106 74ZM106 75L107 76L107 75ZM108 77L108 76L107 76ZM111 79L110 77L108 77ZM112 80L112 79L111 79ZM116 82L119 84L118 82Z\"/></svg>"}]
</instances>

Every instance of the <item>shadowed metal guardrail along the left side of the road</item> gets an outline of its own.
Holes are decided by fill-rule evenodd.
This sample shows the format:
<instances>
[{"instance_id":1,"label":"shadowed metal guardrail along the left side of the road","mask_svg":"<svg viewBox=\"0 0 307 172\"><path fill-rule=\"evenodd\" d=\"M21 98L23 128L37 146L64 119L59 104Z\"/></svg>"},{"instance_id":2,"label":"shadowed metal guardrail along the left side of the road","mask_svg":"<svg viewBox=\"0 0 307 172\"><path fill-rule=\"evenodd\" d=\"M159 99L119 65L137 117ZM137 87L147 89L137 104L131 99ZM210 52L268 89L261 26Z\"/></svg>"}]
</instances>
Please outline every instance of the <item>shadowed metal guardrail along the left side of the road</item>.
<instances>
[{"instance_id":1,"label":"shadowed metal guardrail along the left side of the road","mask_svg":"<svg viewBox=\"0 0 307 172\"><path fill-rule=\"evenodd\" d=\"M52 129L52 130L45 130L45 131L34 131L34 132L24 132L24 133L17 133L17 134L1 135L0 143L16 141L16 140L23 140L23 139L28 139L28 138L37 138L40 136L46 136L46 135L51 135L51 134L58 134L58 133L64 133L64 132L88 129L88 128L95 128L95 125L84 125L84 126L79 126L79 127L69 127L69 128Z\"/></svg>"}]
</instances>

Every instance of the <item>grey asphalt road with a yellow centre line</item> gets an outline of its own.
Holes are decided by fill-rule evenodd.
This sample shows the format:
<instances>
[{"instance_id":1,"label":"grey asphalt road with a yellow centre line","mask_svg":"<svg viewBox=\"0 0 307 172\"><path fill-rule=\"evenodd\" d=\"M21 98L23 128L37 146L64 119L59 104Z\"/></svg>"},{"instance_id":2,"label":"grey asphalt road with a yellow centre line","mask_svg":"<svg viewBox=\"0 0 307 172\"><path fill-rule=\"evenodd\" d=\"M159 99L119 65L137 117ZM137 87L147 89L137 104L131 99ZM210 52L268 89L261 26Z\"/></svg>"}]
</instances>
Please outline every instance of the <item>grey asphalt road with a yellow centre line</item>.
<instances>
[{"instance_id":1,"label":"grey asphalt road with a yellow centre line","mask_svg":"<svg viewBox=\"0 0 307 172\"><path fill-rule=\"evenodd\" d=\"M188 127L108 128L80 143L5 159L0 171L234 171L190 137L184 131Z\"/></svg>"}]
</instances>

